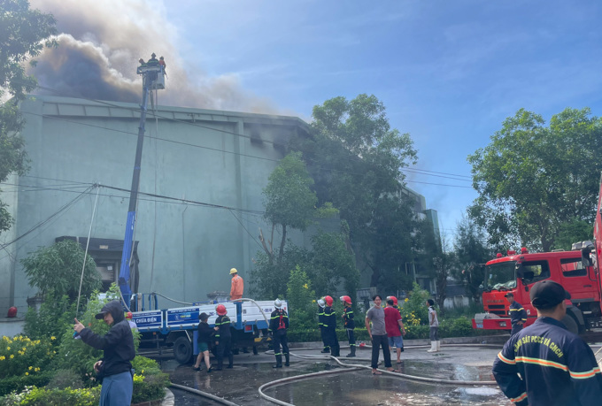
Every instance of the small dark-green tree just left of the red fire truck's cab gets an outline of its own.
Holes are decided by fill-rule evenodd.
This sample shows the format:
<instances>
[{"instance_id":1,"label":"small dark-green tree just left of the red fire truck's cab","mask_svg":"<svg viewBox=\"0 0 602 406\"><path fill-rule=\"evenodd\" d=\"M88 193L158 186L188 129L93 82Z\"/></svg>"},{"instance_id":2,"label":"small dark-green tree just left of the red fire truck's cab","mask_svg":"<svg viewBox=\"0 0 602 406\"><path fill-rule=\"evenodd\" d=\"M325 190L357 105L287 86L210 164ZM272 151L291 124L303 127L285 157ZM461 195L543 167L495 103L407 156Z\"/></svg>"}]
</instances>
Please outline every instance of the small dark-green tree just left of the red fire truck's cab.
<instances>
[{"instance_id":1,"label":"small dark-green tree just left of the red fire truck's cab","mask_svg":"<svg viewBox=\"0 0 602 406\"><path fill-rule=\"evenodd\" d=\"M473 218L463 217L457 225L454 252L458 266L452 272L456 280L462 280L467 294L478 303L484 280L484 264L493 257L493 250L487 243L487 237Z\"/></svg>"}]
</instances>

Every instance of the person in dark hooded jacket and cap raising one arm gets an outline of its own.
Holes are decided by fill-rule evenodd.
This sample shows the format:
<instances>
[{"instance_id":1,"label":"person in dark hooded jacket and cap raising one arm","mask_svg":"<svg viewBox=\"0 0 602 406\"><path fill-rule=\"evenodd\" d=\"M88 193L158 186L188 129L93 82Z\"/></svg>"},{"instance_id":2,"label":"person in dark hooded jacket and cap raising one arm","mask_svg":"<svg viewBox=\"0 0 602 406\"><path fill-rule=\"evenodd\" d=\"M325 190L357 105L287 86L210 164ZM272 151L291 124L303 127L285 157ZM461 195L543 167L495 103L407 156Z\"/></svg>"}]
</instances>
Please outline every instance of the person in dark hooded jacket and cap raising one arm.
<instances>
[{"instance_id":1,"label":"person in dark hooded jacket and cap raising one arm","mask_svg":"<svg viewBox=\"0 0 602 406\"><path fill-rule=\"evenodd\" d=\"M100 391L100 406L130 404L132 402L133 371L135 357L132 330L123 316L123 308L118 301L106 303L96 318L104 319L111 326L108 333L98 335L84 327L77 318L73 330L81 336L81 341L95 349L102 349L104 357L94 364L97 379L103 387Z\"/></svg>"}]
</instances>

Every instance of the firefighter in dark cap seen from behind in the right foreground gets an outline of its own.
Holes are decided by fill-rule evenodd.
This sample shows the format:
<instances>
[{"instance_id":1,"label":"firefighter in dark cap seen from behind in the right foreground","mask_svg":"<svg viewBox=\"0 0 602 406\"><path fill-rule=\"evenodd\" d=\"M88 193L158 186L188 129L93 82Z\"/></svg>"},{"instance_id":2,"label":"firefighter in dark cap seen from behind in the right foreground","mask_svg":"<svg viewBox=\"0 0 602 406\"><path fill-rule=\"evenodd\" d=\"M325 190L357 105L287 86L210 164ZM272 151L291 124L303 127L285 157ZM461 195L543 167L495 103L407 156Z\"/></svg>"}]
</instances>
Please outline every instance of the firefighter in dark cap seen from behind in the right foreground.
<instances>
[{"instance_id":1,"label":"firefighter in dark cap seen from behind in the right foreground","mask_svg":"<svg viewBox=\"0 0 602 406\"><path fill-rule=\"evenodd\" d=\"M553 280L530 290L536 322L510 337L493 362L493 376L512 402L523 405L602 403L602 373L583 339L567 331L567 291Z\"/></svg>"}]
</instances>

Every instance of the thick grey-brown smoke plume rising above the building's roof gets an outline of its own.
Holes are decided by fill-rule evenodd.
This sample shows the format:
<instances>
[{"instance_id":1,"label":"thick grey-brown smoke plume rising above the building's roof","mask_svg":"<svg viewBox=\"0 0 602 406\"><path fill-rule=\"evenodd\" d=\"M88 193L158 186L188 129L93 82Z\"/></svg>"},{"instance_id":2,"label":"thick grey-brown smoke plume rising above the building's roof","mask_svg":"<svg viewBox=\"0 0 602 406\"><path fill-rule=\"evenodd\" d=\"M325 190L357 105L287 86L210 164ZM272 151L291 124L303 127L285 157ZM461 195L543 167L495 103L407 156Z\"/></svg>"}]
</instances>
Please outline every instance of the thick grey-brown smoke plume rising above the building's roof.
<instances>
[{"instance_id":1,"label":"thick grey-brown smoke plume rising above the building's roof","mask_svg":"<svg viewBox=\"0 0 602 406\"><path fill-rule=\"evenodd\" d=\"M235 75L209 77L185 63L178 52L177 28L151 0L32 0L32 8L57 19L58 48L46 49L29 68L37 93L140 103L138 59L151 53L166 59L166 90L158 103L202 109L275 113L269 101L245 92ZM189 77L195 72L195 77ZM52 90L49 90L52 89Z\"/></svg>"}]
</instances>

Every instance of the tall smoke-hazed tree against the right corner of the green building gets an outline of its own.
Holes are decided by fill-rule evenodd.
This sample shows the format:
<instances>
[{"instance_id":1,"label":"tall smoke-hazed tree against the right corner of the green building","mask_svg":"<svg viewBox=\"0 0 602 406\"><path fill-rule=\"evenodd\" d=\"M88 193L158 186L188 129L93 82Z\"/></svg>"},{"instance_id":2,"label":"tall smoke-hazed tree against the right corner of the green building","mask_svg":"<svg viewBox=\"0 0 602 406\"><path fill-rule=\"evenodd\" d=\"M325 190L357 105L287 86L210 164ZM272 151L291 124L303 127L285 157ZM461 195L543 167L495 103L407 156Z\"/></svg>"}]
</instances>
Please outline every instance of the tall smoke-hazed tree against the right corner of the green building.
<instances>
[{"instance_id":1,"label":"tall smoke-hazed tree against the right corner of the green building","mask_svg":"<svg viewBox=\"0 0 602 406\"><path fill-rule=\"evenodd\" d=\"M399 264L411 261L407 240L413 227L409 203L401 198L400 169L416 161L412 139L390 127L375 96L329 99L313 108L313 119L312 139L291 148L304 151L319 201L339 209L349 226L350 248L370 270L371 285L378 286ZM395 233L405 237L394 247L400 237Z\"/></svg>"}]
</instances>

